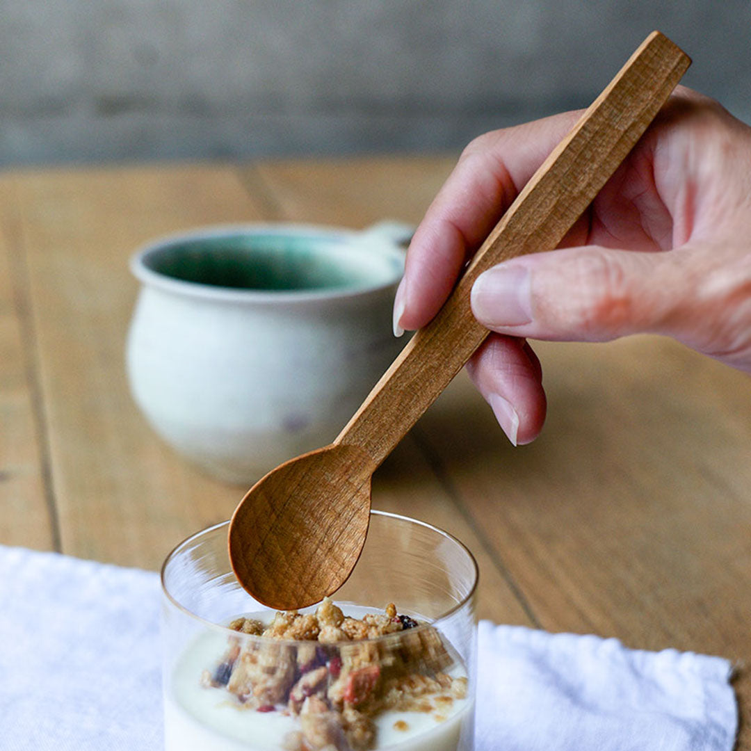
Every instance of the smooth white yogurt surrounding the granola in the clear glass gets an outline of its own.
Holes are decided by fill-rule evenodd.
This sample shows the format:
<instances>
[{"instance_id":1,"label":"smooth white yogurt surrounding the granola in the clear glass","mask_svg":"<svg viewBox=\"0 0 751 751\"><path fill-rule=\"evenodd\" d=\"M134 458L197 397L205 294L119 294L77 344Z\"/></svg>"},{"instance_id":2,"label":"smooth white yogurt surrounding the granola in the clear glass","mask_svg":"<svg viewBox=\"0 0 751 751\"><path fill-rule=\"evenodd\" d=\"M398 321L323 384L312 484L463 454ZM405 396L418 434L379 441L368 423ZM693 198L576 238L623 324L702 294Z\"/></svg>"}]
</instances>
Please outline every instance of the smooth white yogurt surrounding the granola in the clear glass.
<instances>
[{"instance_id":1,"label":"smooth white yogurt surrounding the granola in the clear glass","mask_svg":"<svg viewBox=\"0 0 751 751\"><path fill-rule=\"evenodd\" d=\"M225 689L201 685L201 674L216 665L226 646L225 635L205 633L179 659L171 682L164 686L166 751L279 751L285 736L300 729L294 716L246 710ZM469 699L454 699L441 716L388 710L373 718L377 747L459 751L464 748L460 740L467 743L470 737L471 719Z\"/></svg>"}]
</instances>

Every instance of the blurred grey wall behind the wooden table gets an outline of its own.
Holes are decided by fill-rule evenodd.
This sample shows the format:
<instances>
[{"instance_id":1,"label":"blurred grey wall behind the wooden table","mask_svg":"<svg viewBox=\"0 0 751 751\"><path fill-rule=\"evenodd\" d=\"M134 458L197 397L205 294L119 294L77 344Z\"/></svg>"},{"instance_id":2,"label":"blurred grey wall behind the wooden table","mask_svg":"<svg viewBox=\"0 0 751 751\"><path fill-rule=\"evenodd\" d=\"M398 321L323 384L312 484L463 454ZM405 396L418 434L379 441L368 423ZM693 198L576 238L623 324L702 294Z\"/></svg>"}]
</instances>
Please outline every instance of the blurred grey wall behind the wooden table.
<instances>
[{"instance_id":1,"label":"blurred grey wall behind the wooden table","mask_svg":"<svg viewBox=\"0 0 751 751\"><path fill-rule=\"evenodd\" d=\"M458 149L652 29L751 121L749 0L0 0L0 167Z\"/></svg>"}]
</instances>

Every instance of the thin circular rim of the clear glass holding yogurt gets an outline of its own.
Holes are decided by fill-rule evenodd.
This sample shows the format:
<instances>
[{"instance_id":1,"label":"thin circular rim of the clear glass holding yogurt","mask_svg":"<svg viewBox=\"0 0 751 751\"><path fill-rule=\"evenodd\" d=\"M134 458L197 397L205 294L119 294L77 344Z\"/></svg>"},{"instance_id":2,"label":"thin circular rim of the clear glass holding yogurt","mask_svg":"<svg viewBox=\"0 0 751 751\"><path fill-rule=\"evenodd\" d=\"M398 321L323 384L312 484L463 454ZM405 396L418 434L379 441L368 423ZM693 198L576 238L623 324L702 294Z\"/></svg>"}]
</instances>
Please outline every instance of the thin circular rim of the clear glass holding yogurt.
<instances>
[{"instance_id":1,"label":"thin circular rim of the clear glass holding yogurt","mask_svg":"<svg viewBox=\"0 0 751 751\"><path fill-rule=\"evenodd\" d=\"M475 591L477 590L478 585L478 579L480 576L480 569L478 568L477 560L475 559L475 556L472 555L472 551L469 550L469 547L467 547L459 538L454 537L450 532L446 532L445 529L441 529L439 526L436 526L435 524L431 524L427 521L422 521L420 519L414 519L412 517L404 516L403 514L393 514L391 511L379 511L375 508L370 509L371 516L379 516L379 517L387 517L391 519L396 519L398 521L405 521L411 524L416 524L417 526L423 526L426 529L430 529L432 532L436 532L443 538L447 540L451 540L454 544L457 544L461 550L466 553L467 558L469 559L469 562L472 564L472 587L469 587L469 591L466 593L465 596L460 600L460 602L457 602L456 605L454 605L452 608L449 608L447 611L439 615L436 619L430 621L430 623L422 623L420 626L416 626L412 629L407 629L409 632L420 632L424 629L427 629L429 627L436 626L436 624L440 623L442 620L446 620L447 618L451 617L454 613L459 611L461 608L466 605L467 602L469 602L470 599L472 599L472 596L474 596ZM214 623L211 620L208 620L207 618L204 618L198 614L195 614L193 611L189 610L189 608L186 608L185 605L182 605L182 603L178 602L170 593L170 591L167 589L167 585L164 583L164 572L167 570L167 566L171 559L173 559L173 556L175 556L177 553L179 553L182 548L186 547L187 545L191 544L193 541L195 541L196 538L201 537L201 535L207 535L209 532L213 532L216 529L219 529L219 527L222 526L228 526L230 523L230 520L220 521L216 524L212 524L211 526L207 526L204 529L199 529L198 532L194 532L190 537L185 538L182 540L182 542L179 542L175 545L175 547L170 550L169 553L167 553L167 556L164 558L164 563L161 565L161 571L159 573L159 581L161 582L161 592L162 594L167 598L167 600L170 602L171 605L173 605L174 608L176 608L178 611L182 612L183 614L191 617L193 620L195 620L198 623L203 624L204 626L209 627L210 629L217 630L220 633L225 633L228 636L235 636L235 637L242 637L247 638L250 640L258 640L258 641L269 641L273 642L274 644L310 644L311 640L298 640L298 639L275 639L270 636L257 636L252 634L243 634L243 632L235 631L234 629L229 628L229 626L222 626L219 623ZM276 611L270 609L270 612L275 613ZM363 644L366 642L372 642L372 641L389 641L393 640L394 638L399 638L400 635L402 635L404 631L397 631L393 634L384 634L382 636L374 636L367 639L357 639L357 641L341 641L341 642L335 642L331 646L340 646L342 644Z\"/></svg>"}]
</instances>

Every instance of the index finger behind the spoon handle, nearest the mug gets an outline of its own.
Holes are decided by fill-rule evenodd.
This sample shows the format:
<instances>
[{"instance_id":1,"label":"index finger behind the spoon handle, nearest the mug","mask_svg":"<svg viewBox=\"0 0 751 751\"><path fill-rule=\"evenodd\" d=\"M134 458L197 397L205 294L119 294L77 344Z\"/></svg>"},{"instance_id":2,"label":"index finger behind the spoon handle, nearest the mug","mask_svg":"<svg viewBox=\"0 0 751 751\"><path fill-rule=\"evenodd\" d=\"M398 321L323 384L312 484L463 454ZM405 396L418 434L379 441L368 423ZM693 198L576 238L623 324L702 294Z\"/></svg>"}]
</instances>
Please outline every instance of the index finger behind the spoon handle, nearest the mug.
<instances>
[{"instance_id":1,"label":"index finger behind the spoon handle, nearest the mug","mask_svg":"<svg viewBox=\"0 0 751 751\"><path fill-rule=\"evenodd\" d=\"M401 327L421 328L436 315L466 261L579 116L561 113L469 143L409 245L395 312Z\"/></svg>"}]
</instances>

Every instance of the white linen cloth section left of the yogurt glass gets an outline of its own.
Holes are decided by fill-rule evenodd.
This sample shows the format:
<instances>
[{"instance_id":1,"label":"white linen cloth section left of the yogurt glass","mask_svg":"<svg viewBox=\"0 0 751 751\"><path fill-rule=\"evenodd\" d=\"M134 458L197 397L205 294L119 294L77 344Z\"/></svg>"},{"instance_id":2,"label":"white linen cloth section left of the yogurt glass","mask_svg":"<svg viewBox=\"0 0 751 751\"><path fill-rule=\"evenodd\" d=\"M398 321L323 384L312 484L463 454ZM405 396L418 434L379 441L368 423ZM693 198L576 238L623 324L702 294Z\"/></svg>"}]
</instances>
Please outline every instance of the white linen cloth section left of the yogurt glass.
<instances>
[{"instance_id":1,"label":"white linen cloth section left of the yogurt glass","mask_svg":"<svg viewBox=\"0 0 751 751\"><path fill-rule=\"evenodd\" d=\"M161 751L152 572L0 547L0 749Z\"/></svg>"}]
</instances>

